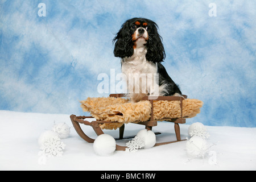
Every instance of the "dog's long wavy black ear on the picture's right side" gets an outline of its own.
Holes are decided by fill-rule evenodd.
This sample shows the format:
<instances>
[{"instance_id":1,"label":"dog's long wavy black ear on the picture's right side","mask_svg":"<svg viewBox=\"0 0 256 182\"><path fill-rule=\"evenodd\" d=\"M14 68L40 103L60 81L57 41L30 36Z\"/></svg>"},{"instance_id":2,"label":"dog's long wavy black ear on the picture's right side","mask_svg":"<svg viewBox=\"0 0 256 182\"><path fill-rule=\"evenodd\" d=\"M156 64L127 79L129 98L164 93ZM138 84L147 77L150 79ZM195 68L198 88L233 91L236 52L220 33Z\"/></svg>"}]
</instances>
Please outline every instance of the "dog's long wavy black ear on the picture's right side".
<instances>
[{"instance_id":1,"label":"dog's long wavy black ear on the picture's right side","mask_svg":"<svg viewBox=\"0 0 256 182\"><path fill-rule=\"evenodd\" d=\"M162 37L158 34L157 25L154 22L152 22L152 24L154 26L147 42L146 59L156 63L163 61L166 58L166 53L164 51Z\"/></svg>"}]
</instances>

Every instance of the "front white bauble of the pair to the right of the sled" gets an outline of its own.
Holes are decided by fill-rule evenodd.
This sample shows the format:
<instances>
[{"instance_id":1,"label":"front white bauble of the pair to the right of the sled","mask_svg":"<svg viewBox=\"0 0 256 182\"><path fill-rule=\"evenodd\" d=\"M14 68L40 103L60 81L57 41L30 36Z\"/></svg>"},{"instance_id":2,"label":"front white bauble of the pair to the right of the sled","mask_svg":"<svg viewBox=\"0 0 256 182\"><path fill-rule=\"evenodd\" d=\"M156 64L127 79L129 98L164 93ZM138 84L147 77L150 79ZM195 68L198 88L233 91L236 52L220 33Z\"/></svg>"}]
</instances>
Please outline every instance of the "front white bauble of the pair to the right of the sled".
<instances>
[{"instance_id":1,"label":"front white bauble of the pair to the right of the sled","mask_svg":"<svg viewBox=\"0 0 256 182\"><path fill-rule=\"evenodd\" d=\"M193 136L187 140L186 151L189 158L203 158L207 150L207 140L198 136Z\"/></svg>"}]
</instances>

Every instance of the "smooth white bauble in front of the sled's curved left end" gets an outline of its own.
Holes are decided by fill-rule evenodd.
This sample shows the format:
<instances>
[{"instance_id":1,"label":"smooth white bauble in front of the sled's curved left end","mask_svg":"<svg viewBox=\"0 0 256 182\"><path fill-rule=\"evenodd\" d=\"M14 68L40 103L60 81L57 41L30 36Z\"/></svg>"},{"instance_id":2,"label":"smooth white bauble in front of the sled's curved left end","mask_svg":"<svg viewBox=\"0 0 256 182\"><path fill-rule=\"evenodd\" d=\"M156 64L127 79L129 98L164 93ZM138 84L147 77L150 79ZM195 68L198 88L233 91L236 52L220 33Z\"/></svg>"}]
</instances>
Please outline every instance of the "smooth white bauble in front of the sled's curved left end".
<instances>
[{"instance_id":1,"label":"smooth white bauble in front of the sled's curved left end","mask_svg":"<svg viewBox=\"0 0 256 182\"><path fill-rule=\"evenodd\" d=\"M115 151L115 139L108 134L99 135L93 143L93 150L97 155L109 156Z\"/></svg>"}]
</instances>

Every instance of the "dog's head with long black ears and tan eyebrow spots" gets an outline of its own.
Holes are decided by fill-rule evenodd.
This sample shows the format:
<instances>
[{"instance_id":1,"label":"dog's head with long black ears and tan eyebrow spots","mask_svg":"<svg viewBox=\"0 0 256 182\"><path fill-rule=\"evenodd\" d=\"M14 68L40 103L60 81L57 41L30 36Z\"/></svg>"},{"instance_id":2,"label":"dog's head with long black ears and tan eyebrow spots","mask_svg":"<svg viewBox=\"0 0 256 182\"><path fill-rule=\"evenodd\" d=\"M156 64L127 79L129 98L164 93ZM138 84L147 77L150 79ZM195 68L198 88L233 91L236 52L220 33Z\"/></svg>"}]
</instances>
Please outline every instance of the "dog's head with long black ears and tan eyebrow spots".
<instances>
[{"instance_id":1,"label":"dog's head with long black ears and tan eyebrow spots","mask_svg":"<svg viewBox=\"0 0 256 182\"><path fill-rule=\"evenodd\" d=\"M132 18L122 24L121 29L113 39L115 42L115 57L131 57L138 43L147 48L146 59L154 63L165 58L162 38L158 34L158 26L146 18Z\"/></svg>"}]
</instances>

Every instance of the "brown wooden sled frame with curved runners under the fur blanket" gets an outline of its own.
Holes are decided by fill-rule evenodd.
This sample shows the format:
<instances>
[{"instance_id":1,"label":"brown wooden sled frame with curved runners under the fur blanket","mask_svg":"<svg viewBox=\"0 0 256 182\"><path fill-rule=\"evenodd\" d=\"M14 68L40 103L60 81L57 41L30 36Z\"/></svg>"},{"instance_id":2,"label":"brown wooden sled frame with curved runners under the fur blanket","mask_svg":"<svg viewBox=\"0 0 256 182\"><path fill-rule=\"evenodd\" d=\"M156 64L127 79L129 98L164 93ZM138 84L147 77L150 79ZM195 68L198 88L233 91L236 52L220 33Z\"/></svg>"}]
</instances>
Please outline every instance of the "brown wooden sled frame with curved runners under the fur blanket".
<instances>
[{"instance_id":1,"label":"brown wooden sled frame with curved runners under the fur blanket","mask_svg":"<svg viewBox=\"0 0 256 182\"><path fill-rule=\"evenodd\" d=\"M125 94L110 94L110 97L125 97ZM178 97L178 96L159 96L157 99L155 99L152 96L145 96L143 97L142 100L148 100L151 102L151 117L148 121L144 121L144 122L131 122L131 123L135 123L135 124L139 124L139 125L145 125L147 130L152 130L153 126L157 125L157 122L159 120L154 120L153 117L153 113L154 113L154 106L153 106L153 101L154 100L167 100L167 101L180 101L180 108L181 108L181 116L182 116L182 101L184 100L184 98L187 98L186 95L183 95L183 97ZM84 139L86 142L89 143L93 143L94 139L88 137L84 131L82 131L80 124L84 124L84 125L88 125L88 126L92 126L93 130L95 131L95 133L97 135L101 135L104 134L104 132L102 131L100 125L104 124L104 123L118 123L118 121L102 121L102 120L97 120L97 121L86 121L86 119L88 118L93 118L92 116L76 116L74 114L72 114L70 116L72 124L77 132L77 134L79 134L79 136ZM161 119L161 121L165 121L164 119L167 119L167 122L174 122L174 130L175 130L175 134L176 134L176 138L177 140L171 141L171 142L161 142L161 143L156 143L155 146L161 146L163 144L169 144L169 143L175 143L175 142L180 142L180 141L184 141L186 139L182 139L180 138L180 126L179 123L185 123L185 118L163 118ZM119 138L118 139L123 139L123 132L125 130L125 125L122 125L121 127L119 127ZM117 144L116 146L116 150L122 150L125 151L126 146L119 146Z\"/></svg>"}]
</instances>

